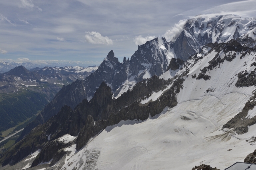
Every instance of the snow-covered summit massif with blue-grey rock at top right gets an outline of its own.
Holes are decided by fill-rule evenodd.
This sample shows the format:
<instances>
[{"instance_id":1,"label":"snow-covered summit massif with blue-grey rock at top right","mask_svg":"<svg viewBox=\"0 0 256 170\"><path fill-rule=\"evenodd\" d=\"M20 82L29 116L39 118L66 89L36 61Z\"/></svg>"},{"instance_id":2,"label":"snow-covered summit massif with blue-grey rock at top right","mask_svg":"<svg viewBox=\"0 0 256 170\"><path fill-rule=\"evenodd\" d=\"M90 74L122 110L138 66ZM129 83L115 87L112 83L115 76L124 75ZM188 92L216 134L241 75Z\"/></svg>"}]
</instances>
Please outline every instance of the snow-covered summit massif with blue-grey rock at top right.
<instances>
[{"instance_id":1,"label":"snow-covered summit massif with blue-grey rock at top right","mask_svg":"<svg viewBox=\"0 0 256 170\"><path fill-rule=\"evenodd\" d=\"M194 41L194 50L207 43L224 43L235 39L247 47L256 47L256 20L236 15L203 15L187 20L184 33ZM243 41L242 41L243 40Z\"/></svg>"}]
</instances>

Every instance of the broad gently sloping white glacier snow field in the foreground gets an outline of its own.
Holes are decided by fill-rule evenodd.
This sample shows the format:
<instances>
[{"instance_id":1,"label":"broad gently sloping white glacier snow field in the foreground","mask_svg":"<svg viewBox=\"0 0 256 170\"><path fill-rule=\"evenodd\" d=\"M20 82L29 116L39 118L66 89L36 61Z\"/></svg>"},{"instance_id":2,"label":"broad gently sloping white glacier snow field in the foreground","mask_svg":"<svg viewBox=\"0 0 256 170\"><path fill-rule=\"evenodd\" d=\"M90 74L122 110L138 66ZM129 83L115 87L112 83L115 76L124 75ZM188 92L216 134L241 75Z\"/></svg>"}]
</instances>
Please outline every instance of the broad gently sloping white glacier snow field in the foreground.
<instances>
[{"instance_id":1,"label":"broad gently sloping white glacier snow field in the foreground","mask_svg":"<svg viewBox=\"0 0 256 170\"><path fill-rule=\"evenodd\" d=\"M248 97L237 92L221 99L209 95L182 102L143 122L121 121L104 129L83 149L68 148L72 153L63 168L79 168L84 162L80 169L92 164L98 170L184 170L202 163L225 169L256 149L245 141L254 134L254 126L244 135L221 130Z\"/></svg>"}]
</instances>

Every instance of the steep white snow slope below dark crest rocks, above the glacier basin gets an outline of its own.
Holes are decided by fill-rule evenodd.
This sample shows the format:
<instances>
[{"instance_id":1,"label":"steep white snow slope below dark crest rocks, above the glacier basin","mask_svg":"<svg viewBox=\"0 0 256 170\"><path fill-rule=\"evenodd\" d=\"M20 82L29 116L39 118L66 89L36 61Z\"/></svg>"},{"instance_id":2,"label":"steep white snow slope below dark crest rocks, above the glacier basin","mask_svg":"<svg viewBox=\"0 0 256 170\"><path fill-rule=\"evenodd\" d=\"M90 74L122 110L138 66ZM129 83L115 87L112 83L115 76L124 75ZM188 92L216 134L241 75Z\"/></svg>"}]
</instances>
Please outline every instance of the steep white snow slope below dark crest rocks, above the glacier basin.
<instances>
[{"instance_id":1,"label":"steep white snow slope below dark crest rocks, above the glacier basin","mask_svg":"<svg viewBox=\"0 0 256 170\"><path fill-rule=\"evenodd\" d=\"M232 52L233 53L233 52ZM200 74L200 69L203 69L207 66L208 62L214 58L216 52L210 53L194 64L192 68L190 68L190 72L188 73L188 78L185 79L183 83L183 89L177 95L178 102L184 102L187 100L196 100L204 95L213 95L217 98L221 98L225 94L238 92L245 95L252 95L252 92L255 90L254 86L250 87L236 87L235 84L238 80L237 74L244 70L250 72L250 70L254 70L255 66L250 66L254 60L254 55L246 55L242 59L240 59L241 54L236 54L236 58L229 62L224 61L224 63L220 64L220 66L216 66L210 72L206 72L207 75L210 75L210 80L196 80L192 78L192 74ZM224 55L222 52L220 55ZM182 70L180 71L182 72ZM178 72L178 74L181 74ZM211 89L212 92L206 93L206 90Z\"/></svg>"}]
</instances>

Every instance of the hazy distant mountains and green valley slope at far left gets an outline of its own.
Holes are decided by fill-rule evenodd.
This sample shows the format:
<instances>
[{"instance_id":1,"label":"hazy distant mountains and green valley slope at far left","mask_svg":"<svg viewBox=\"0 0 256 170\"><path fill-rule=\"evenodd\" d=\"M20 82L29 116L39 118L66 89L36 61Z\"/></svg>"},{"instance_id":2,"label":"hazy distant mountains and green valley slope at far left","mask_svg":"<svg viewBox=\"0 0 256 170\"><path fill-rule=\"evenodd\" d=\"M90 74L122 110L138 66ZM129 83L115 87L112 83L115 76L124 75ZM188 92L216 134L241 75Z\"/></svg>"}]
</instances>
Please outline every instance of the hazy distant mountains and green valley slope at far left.
<instances>
[{"instance_id":1,"label":"hazy distant mountains and green valley slope at far left","mask_svg":"<svg viewBox=\"0 0 256 170\"><path fill-rule=\"evenodd\" d=\"M83 80L97 68L66 66L28 70L17 66L0 74L0 131L31 118L54 98L63 85Z\"/></svg>"}]
</instances>

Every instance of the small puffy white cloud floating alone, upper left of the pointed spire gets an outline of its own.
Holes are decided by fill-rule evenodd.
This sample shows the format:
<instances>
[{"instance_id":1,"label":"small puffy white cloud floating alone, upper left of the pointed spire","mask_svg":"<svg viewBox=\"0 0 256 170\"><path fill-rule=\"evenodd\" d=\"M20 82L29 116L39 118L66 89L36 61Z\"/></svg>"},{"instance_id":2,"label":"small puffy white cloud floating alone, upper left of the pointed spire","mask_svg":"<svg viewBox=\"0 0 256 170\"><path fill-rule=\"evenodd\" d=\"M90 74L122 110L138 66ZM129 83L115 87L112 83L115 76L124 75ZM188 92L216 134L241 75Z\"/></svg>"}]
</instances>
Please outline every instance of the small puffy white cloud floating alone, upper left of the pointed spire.
<instances>
[{"instance_id":1,"label":"small puffy white cloud floating alone, upper left of the pointed spire","mask_svg":"<svg viewBox=\"0 0 256 170\"><path fill-rule=\"evenodd\" d=\"M108 38L107 36L104 37L100 33L92 31L86 32L85 39L88 43L92 44L105 44L105 45L112 45L112 39Z\"/></svg>"}]
</instances>

